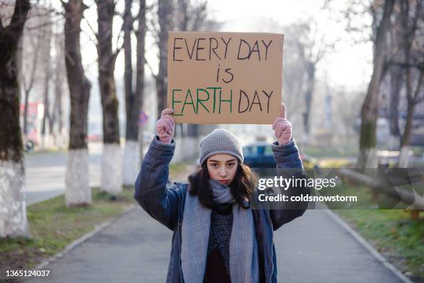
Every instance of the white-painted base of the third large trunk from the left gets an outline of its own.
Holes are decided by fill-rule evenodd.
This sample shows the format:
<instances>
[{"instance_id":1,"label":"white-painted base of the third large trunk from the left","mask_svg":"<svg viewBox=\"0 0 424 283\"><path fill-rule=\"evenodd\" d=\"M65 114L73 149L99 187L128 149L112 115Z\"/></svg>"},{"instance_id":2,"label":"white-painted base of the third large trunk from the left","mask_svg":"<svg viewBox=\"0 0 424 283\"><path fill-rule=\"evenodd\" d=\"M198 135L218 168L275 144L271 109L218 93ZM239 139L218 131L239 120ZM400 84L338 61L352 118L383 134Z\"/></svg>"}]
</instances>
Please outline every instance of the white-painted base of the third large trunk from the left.
<instances>
[{"instance_id":1,"label":"white-painted base of the third large trunk from the left","mask_svg":"<svg viewBox=\"0 0 424 283\"><path fill-rule=\"evenodd\" d=\"M100 191L118 195L122 192L122 153L119 144L103 144Z\"/></svg>"}]
</instances>

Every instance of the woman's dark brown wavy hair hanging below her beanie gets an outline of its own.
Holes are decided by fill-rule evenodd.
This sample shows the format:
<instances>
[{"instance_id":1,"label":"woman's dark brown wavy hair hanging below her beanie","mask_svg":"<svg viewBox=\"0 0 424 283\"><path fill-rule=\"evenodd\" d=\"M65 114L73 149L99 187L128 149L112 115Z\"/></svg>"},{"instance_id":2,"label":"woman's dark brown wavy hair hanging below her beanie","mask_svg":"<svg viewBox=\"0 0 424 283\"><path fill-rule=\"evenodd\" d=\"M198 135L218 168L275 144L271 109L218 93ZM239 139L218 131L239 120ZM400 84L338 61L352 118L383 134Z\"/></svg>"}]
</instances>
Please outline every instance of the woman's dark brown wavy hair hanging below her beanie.
<instances>
[{"instance_id":1,"label":"woman's dark brown wavy hair hanging below her beanie","mask_svg":"<svg viewBox=\"0 0 424 283\"><path fill-rule=\"evenodd\" d=\"M212 209L212 189L209 185L209 179L207 162L204 162L200 169L188 176L188 183L190 184L188 193L191 196L197 196L200 203ZM249 207L246 206L245 200L251 200L257 182L258 176L256 173L249 166L238 162L236 175L234 175L229 188L240 206Z\"/></svg>"}]
</instances>

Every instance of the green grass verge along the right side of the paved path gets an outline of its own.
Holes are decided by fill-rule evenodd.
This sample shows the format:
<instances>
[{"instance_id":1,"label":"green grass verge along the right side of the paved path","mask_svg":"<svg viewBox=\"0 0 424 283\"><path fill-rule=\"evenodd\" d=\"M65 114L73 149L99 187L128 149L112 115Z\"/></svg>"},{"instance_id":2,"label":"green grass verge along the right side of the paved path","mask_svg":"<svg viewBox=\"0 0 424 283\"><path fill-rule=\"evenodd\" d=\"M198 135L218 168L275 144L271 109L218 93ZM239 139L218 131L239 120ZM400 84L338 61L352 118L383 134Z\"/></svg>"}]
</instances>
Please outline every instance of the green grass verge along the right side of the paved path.
<instances>
[{"instance_id":1,"label":"green grass verge along the right side of the paved path","mask_svg":"<svg viewBox=\"0 0 424 283\"><path fill-rule=\"evenodd\" d=\"M355 203L327 205L407 277L424 283L424 218L413 221L405 203L385 194L373 198L371 189L348 180L320 193L357 196Z\"/></svg>"}]
</instances>

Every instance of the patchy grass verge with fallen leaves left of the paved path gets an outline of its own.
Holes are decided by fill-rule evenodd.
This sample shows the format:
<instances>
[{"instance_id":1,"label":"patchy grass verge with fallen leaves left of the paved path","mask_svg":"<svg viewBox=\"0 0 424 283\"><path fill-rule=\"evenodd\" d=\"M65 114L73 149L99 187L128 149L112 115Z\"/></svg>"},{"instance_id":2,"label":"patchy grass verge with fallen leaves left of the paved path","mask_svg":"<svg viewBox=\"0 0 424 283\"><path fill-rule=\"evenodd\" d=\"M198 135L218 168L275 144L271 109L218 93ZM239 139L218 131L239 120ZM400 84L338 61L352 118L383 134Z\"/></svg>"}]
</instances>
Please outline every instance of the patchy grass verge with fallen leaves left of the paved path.
<instances>
[{"instance_id":1,"label":"patchy grass verge with fallen leaves left of the paved path","mask_svg":"<svg viewBox=\"0 0 424 283\"><path fill-rule=\"evenodd\" d=\"M66 207L64 196L28 206L31 237L0 239L0 278L6 270L32 268L96 225L121 214L134 204L133 194L134 187L125 187L116 200L110 200L109 194L94 188L93 202L86 207Z\"/></svg>"}]
</instances>

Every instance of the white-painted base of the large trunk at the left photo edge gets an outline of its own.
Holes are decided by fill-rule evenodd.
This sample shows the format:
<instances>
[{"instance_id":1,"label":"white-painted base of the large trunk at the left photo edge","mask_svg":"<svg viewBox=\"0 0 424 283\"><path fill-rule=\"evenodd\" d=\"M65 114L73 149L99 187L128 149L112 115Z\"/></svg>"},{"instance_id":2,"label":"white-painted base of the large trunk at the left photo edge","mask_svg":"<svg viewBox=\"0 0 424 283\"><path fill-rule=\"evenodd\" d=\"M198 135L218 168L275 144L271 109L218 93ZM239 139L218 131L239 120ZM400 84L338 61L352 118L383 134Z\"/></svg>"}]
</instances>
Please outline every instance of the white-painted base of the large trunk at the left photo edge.
<instances>
[{"instance_id":1,"label":"white-painted base of the large trunk at the left photo edge","mask_svg":"<svg viewBox=\"0 0 424 283\"><path fill-rule=\"evenodd\" d=\"M30 237L23 162L0 160L0 237Z\"/></svg>"}]
</instances>

